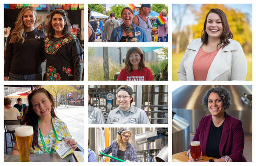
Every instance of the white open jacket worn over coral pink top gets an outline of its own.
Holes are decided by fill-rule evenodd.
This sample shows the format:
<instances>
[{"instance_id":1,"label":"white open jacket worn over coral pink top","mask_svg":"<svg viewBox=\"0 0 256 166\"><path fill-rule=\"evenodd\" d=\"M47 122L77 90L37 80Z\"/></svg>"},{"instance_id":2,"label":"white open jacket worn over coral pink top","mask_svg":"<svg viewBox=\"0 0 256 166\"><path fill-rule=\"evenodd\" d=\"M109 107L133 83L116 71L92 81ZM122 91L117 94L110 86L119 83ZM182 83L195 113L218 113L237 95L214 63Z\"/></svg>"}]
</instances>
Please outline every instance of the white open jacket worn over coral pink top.
<instances>
[{"instance_id":1,"label":"white open jacket worn over coral pink top","mask_svg":"<svg viewBox=\"0 0 256 166\"><path fill-rule=\"evenodd\" d=\"M221 48L208 70L206 81L245 80L247 62L240 43L229 39L230 43ZM194 81L193 62L203 45L201 38L194 39L188 45L178 69L178 79L181 81ZM223 45L223 43L222 43Z\"/></svg>"}]
</instances>

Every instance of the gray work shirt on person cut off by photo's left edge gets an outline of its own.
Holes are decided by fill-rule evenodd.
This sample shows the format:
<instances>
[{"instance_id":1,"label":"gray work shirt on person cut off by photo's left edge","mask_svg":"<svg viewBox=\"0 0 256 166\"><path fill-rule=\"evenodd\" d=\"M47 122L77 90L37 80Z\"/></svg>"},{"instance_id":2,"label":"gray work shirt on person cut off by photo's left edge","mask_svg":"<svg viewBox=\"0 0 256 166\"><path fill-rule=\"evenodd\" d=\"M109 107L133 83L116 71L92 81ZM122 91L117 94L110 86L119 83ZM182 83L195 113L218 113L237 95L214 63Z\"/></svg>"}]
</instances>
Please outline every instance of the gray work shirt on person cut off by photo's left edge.
<instances>
[{"instance_id":1,"label":"gray work shirt on person cut off by photo's left edge","mask_svg":"<svg viewBox=\"0 0 256 166\"><path fill-rule=\"evenodd\" d=\"M88 105L88 123L101 123L105 124L104 115L99 108L91 107Z\"/></svg>"}]
</instances>

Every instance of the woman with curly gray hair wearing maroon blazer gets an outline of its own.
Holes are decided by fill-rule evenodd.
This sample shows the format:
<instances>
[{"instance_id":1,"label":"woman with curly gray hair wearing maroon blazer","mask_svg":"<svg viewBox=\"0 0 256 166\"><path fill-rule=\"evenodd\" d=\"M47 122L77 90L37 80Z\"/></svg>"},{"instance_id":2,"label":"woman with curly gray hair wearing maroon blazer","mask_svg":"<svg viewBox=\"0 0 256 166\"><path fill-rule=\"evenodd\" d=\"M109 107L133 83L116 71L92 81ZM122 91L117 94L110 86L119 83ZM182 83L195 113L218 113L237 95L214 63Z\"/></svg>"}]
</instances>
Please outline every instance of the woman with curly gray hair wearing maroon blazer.
<instances>
[{"instance_id":1,"label":"woman with curly gray hair wearing maroon blazer","mask_svg":"<svg viewBox=\"0 0 256 166\"><path fill-rule=\"evenodd\" d=\"M230 92L219 86L203 96L204 111L209 110L211 115L201 118L192 141L200 141L203 155L216 158L207 162L246 162L242 121L225 112L231 107L231 98ZM188 162L194 162L190 148Z\"/></svg>"}]
</instances>

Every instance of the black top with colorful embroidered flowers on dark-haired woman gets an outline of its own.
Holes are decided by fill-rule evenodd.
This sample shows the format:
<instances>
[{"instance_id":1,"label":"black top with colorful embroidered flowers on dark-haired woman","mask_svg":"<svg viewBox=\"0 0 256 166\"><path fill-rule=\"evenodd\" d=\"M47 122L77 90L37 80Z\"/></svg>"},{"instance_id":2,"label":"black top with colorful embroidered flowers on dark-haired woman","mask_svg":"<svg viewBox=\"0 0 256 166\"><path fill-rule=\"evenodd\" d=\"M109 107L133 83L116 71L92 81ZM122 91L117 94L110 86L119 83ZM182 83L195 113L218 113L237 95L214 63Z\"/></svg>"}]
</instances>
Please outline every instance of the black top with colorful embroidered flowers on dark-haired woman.
<instances>
[{"instance_id":1,"label":"black top with colorful embroidered flowers on dark-haired woman","mask_svg":"<svg viewBox=\"0 0 256 166\"><path fill-rule=\"evenodd\" d=\"M44 80L80 80L80 56L83 49L75 35L44 39L46 55L46 77Z\"/></svg>"}]
</instances>

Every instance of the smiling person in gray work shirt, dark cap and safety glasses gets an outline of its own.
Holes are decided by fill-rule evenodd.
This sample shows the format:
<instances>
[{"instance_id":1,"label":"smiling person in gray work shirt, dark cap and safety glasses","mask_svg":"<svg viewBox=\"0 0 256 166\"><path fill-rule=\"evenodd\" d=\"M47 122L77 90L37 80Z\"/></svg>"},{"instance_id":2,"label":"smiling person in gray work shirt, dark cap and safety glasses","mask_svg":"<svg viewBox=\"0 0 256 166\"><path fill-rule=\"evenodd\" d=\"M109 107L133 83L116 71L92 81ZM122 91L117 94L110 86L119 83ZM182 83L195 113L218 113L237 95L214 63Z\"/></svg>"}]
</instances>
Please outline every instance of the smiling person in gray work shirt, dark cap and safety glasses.
<instances>
[{"instance_id":1,"label":"smiling person in gray work shirt, dark cap and safety glasses","mask_svg":"<svg viewBox=\"0 0 256 166\"><path fill-rule=\"evenodd\" d=\"M127 85L122 85L117 89L116 100L119 107L109 112L107 123L150 124L146 112L131 104L133 101L132 93L132 88Z\"/></svg>"}]
</instances>

